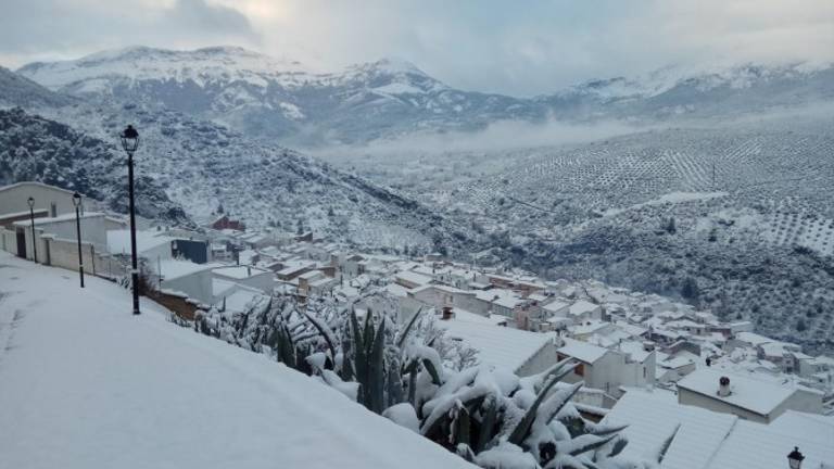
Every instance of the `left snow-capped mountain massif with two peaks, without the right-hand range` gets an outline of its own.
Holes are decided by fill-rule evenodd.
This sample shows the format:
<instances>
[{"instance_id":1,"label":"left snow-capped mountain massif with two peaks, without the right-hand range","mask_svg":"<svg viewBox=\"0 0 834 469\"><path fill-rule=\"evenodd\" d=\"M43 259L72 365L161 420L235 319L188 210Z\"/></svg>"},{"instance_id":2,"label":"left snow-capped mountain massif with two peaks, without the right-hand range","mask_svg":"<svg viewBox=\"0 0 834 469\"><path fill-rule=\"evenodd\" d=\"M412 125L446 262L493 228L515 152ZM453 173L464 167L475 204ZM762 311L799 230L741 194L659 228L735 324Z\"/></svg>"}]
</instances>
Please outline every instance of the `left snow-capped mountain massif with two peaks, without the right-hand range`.
<instances>
[{"instance_id":1,"label":"left snow-capped mountain massif with two peaks, without the right-hand range","mask_svg":"<svg viewBox=\"0 0 834 469\"><path fill-rule=\"evenodd\" d=\"M394 59L316 74L298 62L240 48L138 47L75 61L33 63L18 73L52 90L161 103L289 144L365 141L543 116L541 111L531 114L522 100L455 90Z\"/></svg>"}]
</instances>

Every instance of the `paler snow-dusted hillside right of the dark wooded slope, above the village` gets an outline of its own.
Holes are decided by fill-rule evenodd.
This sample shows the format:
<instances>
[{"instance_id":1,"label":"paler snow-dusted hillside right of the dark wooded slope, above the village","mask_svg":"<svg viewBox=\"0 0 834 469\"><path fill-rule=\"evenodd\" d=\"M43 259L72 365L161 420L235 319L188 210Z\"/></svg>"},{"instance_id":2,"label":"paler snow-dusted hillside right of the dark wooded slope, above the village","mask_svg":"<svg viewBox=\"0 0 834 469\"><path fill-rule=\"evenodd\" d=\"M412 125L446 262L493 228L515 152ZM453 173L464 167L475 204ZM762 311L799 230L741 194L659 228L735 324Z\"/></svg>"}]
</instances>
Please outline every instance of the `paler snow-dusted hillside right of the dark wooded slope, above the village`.
<instances>
[{"instance_id":1,"label":"paler snow-dusted hillside right of the dark wooded slope, above the village","mask_svg":"<svg viewBox=\"0 0 834 469\"><path fill-rule=\"evenodd\" d=\"M104 102L62 109L54 118L101 138L117 135L117 123L134 123L142 136L139 174L165 187L198 220L223 207L253 228L312 230L372 248L450 249L471 239L454 221L380 185L159 105Z\"/></svg>"}]
</instances>

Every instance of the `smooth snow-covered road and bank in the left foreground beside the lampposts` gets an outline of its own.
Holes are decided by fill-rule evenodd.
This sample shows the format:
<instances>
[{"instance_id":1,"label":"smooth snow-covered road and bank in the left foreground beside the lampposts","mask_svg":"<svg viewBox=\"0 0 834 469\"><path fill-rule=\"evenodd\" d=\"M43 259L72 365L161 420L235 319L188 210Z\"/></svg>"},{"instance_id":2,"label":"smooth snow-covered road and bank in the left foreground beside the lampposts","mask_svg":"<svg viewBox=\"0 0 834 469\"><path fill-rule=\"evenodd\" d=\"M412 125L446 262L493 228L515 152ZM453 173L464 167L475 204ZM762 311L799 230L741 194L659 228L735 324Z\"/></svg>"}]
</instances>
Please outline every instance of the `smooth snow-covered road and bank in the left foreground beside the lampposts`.
<instances>
[{"instance_id":1,"label":"smooth snow-covered road and bank in the left foreground beside the lampposts","mask_svg":"<svg viewBox=\"0 0 834 469\"><path fill-rule=\"evenodd\" d=\"M0 466L464 468L457 456L151 303L0 252Z\"/></svg>"}]
</instances>

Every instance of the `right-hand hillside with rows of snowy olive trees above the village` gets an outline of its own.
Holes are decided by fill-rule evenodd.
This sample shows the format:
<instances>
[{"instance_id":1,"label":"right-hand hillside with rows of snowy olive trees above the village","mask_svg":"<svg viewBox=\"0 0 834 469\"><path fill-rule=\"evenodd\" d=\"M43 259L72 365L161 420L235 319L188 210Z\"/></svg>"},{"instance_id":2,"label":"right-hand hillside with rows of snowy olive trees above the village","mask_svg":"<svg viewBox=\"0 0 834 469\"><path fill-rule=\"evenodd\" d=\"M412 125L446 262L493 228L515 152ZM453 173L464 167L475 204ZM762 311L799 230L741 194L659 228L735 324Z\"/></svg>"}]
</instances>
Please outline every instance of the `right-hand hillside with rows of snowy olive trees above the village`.
<instances>
[{"instance_id":1,"label":"right-hand hillside with rows of snowy olive trees above the village","mask_svg":"<svg viewBox=\"0 0 834 469\"><path fill-rule=\"evenodd\" d=\"M834 350L834 135L818 124L536 149L424 202L485 231L492 262L683 297Z\"/></svg>"}]
</instances>

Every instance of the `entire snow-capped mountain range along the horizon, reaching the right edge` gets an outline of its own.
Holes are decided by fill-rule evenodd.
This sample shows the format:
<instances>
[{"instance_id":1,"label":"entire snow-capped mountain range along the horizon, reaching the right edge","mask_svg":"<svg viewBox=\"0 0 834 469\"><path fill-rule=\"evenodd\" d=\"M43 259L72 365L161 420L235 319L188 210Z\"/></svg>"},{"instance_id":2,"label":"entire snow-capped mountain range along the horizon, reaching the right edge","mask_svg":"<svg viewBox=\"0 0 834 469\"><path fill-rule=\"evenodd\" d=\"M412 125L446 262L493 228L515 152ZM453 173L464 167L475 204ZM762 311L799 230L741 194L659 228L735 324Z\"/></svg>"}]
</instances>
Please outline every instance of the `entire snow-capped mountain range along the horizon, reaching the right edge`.
<instances>
[{"instance_id":1,"label":"entire snow-capped mountain range along the horizon, reaching the right edge","mask_svg":"<svg viewBox=\"0 0 834 469\"><path fill-rule=\"evenodd\" d=\"M33 63L22 75L70 94L159 103L256 138L321 147L413 132L482 129L498 121L712 118L834 100L829 65L667 67L520 99L452 88L394 59L317 73L241 48L134 47Z\"/></svg>"}]
</instances>

